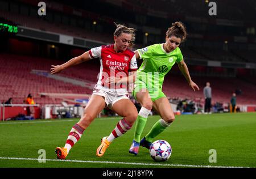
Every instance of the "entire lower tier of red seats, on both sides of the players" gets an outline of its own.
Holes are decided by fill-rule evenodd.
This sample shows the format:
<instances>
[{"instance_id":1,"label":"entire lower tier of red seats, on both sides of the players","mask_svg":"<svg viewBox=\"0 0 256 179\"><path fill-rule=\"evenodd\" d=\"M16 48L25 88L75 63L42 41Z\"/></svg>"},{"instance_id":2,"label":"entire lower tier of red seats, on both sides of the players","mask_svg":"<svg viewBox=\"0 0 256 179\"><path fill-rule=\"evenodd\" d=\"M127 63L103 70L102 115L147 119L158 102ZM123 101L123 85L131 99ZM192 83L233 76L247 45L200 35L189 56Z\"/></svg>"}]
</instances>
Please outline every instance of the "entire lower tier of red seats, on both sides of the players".
<instances>
[{"instance_id":1,"label":"entire lower tier of red seats, on both sides of the players","mask_svg":"<svg viewBox=\"0 0 256 179\"><path fill-rule=\"evenodd\" d=\"M61 63L61 61L54 61ZM52 99L49 97L41 97L40 93L76 93L76 94L91 94L92 89L89 87L81 87L71 83L65 83L60 80L47 78L31 73L32 70L45 70L49 72L49 67L52 65L52 59L16 56L13 54L1 54L0 57L0 93L3 96L1 100L7 100L13 97L15 103L23 103L24 97L30 92L34 94L34 100L37 104L60 104L61 99ZM86 71L86 73L85 73ZM95 84L99 66L87 65L83 63L79 66L72 67L67 71L63 71L61 76L66 76L72 79L86 80ZM242 90L242 95L237 96L239 104L255 104L256 93L254 91L255 84L245 82L236 78L213 78L213 77L198 77L193 76L193 79L203 89L205 82L210 81L213 89L213 103L221 101L228 103L230 93L236 89ZM251 79L254 80L254 79ZM255 81L255 80L254 80ZM221 88L220 88L221 87ZM166 76L163 91L169 97L179 96L182 99L202 98L201 91L193 92L185 82L181 75Z\"/></svg>"}]
</instances>

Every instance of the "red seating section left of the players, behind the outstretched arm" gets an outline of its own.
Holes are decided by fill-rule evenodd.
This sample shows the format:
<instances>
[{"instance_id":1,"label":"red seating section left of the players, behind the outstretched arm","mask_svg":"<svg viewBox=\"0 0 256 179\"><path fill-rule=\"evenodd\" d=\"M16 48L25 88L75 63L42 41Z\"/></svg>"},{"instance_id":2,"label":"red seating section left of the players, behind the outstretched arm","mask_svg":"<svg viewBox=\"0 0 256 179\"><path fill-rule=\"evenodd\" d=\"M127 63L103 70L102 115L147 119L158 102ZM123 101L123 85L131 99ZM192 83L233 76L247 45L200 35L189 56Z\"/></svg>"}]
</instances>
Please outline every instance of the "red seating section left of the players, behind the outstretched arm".
<instances>
[{"instance_id":1,"label":"red seating section left of the players, behind the outstretched arm","mask_svg":"<svg viewBox=\"0 0 256 179\"><path fill-rule=\"evenodd\" d=\"M61 63L60 61L55 62ZM33 69L49 72L51 65L51 59L1 54L1 100L6 101L11 96L15 104L22 104L27 94L32 93L36 104L60 104L62 99L40 97L40 93L92 93L92 90L86 87L76 86L71 83L65 83L31 73ZM81 66L84 67L84 65ZM91 65L89 68L85 68L86 73L84 73L85 69L82 69L81 66L70 69L63 73L62 76L80 80L92 80L92 83L95 83L97 81L99 67L96 70L96 67Z\"/></svg>"}]
</instances>

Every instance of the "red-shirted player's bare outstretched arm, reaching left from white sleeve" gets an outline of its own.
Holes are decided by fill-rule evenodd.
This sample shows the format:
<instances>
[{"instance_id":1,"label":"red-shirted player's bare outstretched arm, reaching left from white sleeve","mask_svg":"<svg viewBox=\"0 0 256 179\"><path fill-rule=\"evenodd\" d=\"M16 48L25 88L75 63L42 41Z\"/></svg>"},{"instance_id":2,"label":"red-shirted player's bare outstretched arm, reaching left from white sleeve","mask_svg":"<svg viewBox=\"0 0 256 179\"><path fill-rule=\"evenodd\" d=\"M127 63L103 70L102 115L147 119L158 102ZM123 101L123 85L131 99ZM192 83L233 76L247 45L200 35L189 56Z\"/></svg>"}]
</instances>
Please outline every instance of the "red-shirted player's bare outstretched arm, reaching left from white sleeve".
<instances>
[{"instance_id":1,"label":"red-shirted player's bare outstretched arm, reaching left from white sleeve","mask_svg":"<svg viewBox=\"0 0 256 179\"><path fill-rule=\"evenodd\" d=\"M78 65L79 63L88 61L90 58L89 52L81 54L81 56L70 59L69 61L63 63L62 65L51 65L51 74L60 73L61 71L67 69L68 67Z\"/></svg>"}]
</instances>

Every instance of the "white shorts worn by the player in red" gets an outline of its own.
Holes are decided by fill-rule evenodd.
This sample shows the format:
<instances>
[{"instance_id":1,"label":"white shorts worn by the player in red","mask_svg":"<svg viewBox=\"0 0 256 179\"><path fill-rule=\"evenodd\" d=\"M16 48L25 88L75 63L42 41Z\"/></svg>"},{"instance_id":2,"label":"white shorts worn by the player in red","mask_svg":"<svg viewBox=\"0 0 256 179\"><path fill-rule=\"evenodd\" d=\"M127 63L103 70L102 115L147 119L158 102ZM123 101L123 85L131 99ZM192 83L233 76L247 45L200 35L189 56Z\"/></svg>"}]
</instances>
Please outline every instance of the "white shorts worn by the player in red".
<instances>
[{"instance_id":1,"label":"white shorts worn by the player in red","mask_svg":"<svg viewBox=\"0 0 256 179\"><path fill-rule=\"evenodd\" d=\"M121 99L128 99L130 100L129 94L126 89L110 89L102 87L101 85L96 84L93 89L93 95L100 95L105 98L105 103L108 108L112 109L114 103Z\"/></svg>"}]
</instances>

